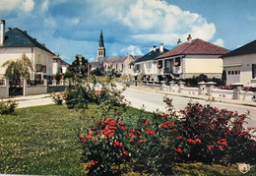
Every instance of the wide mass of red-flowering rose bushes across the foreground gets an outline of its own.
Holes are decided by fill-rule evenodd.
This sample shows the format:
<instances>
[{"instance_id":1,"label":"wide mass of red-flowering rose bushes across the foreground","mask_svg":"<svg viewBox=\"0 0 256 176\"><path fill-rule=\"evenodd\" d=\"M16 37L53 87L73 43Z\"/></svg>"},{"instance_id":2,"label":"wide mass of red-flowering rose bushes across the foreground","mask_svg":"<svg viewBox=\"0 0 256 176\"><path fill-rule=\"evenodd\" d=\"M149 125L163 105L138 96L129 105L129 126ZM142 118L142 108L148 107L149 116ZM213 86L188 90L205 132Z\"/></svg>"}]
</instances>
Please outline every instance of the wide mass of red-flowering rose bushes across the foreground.
<instances>
[{"instance_id":1,"label":"wide mass of red-flowering rose bushes across the foreground","mask_svg":"<svg viewBox=\"0 0 256 176\"><path fill-rule=\"evenodd\" d=\"M253 129L242 126L246 114L192 102L178 112L170 98L163 101L166 112L141 115L130 124L126 113L102 103L96 124L78 132L85 172L114 174L128 167L165 175L176 162L255 164Z\"/></svg>"}]
</instances>

